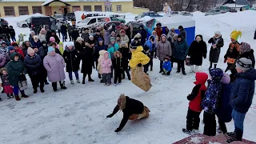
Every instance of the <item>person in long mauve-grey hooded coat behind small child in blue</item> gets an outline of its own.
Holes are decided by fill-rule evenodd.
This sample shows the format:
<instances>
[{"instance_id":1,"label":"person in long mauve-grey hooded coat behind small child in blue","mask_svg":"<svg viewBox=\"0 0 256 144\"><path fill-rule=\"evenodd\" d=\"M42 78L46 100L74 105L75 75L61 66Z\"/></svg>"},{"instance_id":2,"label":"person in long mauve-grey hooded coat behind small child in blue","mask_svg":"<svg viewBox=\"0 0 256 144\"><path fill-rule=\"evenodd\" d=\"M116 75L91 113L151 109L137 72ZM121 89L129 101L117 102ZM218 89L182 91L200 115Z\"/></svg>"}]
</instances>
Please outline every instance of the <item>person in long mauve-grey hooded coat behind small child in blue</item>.
<instances>
[{"instance_id":1,"label":"person in long mauve-grey hooded coat behind small child in blue","mask_svg":"<svg viewBox=\"0 0 256 144\"><path fill-rule=\"evenodd\" d=\"M162 73L162 64L166 56L170 57L172 56L172 49L170 46L170 42L167 41L166 34L161 35L161 41L158 42L158 48L157 48L157 56L160 60L160 71L159 73Z\"/></svg>"}]
</instances>

